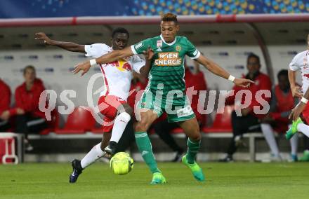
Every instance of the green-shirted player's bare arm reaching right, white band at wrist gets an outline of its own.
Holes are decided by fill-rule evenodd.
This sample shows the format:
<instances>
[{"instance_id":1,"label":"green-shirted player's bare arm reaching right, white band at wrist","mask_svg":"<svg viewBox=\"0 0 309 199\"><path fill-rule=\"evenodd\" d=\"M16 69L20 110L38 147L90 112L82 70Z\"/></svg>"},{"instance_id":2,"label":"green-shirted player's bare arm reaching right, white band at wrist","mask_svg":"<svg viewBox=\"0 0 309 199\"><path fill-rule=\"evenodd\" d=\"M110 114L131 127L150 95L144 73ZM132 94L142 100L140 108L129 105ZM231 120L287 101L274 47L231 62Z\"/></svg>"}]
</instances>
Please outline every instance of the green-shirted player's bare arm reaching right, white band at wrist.
<instances>
[{"instance_id":1,"label":"green-shirted player's bare arm reaching right, white band at wrist","mask_svg":"<svg viewBox=\"0 0 309 199\"><path fill-rule=\"evenodd\" d=\"M225 71L225 69L219 67L218 64L204 57L204 55L199 55L199 57L196 60L204 67L206 67L206 69L211 71L213 74L226 78L235 83L235 85L239 85L243 88L246 88L250 85L250 83L254 83L254 81L251 81L246 78L235 78L234 76L230 75L228 71Z\"/></svg>"}]
</instances>

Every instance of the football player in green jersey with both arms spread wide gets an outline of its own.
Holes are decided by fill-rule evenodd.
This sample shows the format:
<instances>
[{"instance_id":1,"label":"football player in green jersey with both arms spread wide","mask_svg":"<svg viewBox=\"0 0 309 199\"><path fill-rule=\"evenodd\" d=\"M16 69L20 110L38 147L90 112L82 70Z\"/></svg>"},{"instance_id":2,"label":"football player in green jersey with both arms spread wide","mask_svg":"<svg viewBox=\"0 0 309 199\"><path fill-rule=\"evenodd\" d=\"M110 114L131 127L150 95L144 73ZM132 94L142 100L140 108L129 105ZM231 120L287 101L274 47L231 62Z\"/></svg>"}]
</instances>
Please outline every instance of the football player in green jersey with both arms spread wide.
<instances>
[{"instance_id":1,"label":"football player in green jersey with both arms spread wide","mask_svg":"<svg viewBox=\"0 0 309 199\"><path fill-rule=\"evenodd\" d=\"M135 128L138 150L153 174L151 184L164 184L166 182L162 172L157 167L150 139L147 135L150 125L163 112L166 112L169 122L177 122L183 128L185 135L188 136L188 152L183 156L183 163L190 168L197 181L205 180L201 167L195 162L202 135L195 114L184 94L185 55L197 60L213 74L226 78L236 85L247 87L249 83L253 83L248 79L235 78L219 67L218 64L204 57L185 36L176 36L178 30L176 15L166 13L162 16L160 36L145 39L123 50L114 50L112 53L90 60L90 62L77 64L73 71L74 74L83 71L81 75L84 75L95 64L114 62L124 57L142 54L148 49L153 50L155 55L151 60L149 82L140 102L138 102L140 120Z\"/></svg>"}]
</instances>

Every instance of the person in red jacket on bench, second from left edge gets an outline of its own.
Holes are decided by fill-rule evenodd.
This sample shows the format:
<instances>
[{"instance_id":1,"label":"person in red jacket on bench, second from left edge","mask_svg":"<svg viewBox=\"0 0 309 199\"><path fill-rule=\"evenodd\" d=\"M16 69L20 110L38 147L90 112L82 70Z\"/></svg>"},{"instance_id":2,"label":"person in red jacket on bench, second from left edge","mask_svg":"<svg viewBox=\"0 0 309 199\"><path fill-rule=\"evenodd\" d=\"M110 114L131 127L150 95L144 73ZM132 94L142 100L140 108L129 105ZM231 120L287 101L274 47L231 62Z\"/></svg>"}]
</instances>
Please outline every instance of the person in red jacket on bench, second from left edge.
<instances>
[{"instance_id":1,"label":"person in red jacket on bench, second from left edge","mask_svg":"<svg viewBox=\"0 0 309 199\"><path fill-rule=\"evenodd\" d=\"M39 133L47 127L45 114L39 110L39 97L45 88L33 66L25 67L23 74L25 82L15 90L15 110L22 112L16 116L15 130L25 134L25 149L31 151L33 148L27 135L30 132Z\"/></svg>"}]
</instances>

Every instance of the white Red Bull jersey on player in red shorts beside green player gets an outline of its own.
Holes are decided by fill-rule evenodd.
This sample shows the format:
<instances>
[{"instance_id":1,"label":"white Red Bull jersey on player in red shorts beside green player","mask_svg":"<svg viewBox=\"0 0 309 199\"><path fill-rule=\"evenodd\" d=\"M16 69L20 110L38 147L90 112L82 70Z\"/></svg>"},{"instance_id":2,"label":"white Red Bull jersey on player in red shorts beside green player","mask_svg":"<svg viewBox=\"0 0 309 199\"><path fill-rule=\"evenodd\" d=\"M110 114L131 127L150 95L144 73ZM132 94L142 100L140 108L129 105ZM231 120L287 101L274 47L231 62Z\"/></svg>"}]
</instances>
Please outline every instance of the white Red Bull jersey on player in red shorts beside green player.
<instances>
[{"instance_id":1,"label":"white Red Bull jersey on player in red shorts beside green player","mask_svg":"<svg viewBox=\"0 0 309 199\"><path fill-rule=\"evenodd\" d=\"M112 52L112 47L104 43L94 43L85 45L85 51L87 57L97 58ZM126 100L131 87L132 70L140 73L140 68L144 65L145 61L137 55L108 64L100 64L105 84L105 89L100 96L115 95Z\"/></svg>"}]
</instances>

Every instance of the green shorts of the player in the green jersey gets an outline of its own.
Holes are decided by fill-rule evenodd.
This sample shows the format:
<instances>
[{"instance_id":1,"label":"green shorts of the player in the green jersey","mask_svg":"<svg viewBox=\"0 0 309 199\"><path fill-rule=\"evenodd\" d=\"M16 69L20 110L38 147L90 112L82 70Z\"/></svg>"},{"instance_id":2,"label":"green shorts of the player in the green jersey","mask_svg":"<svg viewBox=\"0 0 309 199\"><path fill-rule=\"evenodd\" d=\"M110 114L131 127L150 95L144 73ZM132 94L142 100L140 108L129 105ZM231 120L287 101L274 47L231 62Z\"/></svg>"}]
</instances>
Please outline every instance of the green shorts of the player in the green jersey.
<instances>
[{"instance_id":1,"label":"green shorts of the player in the green jersey","mask_svg":"<svg viewBox=\"0 0 309 199\"><path fill-rule=\"evenodd\" d=\"M188 121L195 118L187 96L166 99L156 97L150 90L145 90L137 104L138 109L152 109L159 116L165 112L169 123Z\"/></svg>"}]
</instances>

